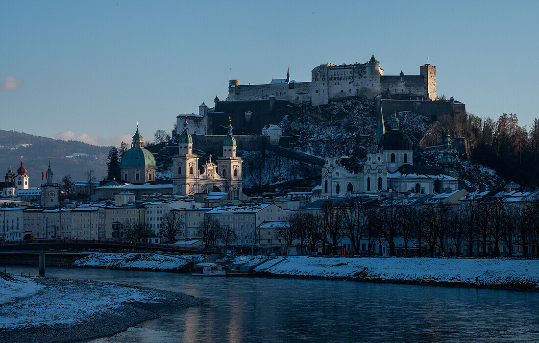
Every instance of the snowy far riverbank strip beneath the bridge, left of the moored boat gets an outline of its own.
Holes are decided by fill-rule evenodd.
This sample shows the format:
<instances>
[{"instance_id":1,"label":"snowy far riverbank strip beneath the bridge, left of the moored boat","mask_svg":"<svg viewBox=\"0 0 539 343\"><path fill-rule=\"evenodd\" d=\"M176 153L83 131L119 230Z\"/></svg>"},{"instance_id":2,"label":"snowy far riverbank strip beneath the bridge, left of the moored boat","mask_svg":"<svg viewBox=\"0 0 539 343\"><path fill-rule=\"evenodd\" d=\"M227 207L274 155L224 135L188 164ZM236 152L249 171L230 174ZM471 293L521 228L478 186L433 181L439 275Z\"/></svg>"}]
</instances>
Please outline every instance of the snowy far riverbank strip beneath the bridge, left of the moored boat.
<instances>
[{"instance_id":1,"label":"snowy far riverbank strip beneath the bridge, left of the moored boat","mask_svg":"<svg viewBox=\"0 0 539 343\"><path fill-rule=\"evenodd\" d=\"M118 270L185 271L189 264L203 262L203 255L161 255L158 253L94 252L75 262L74 267Z\"/></svg>"}]
</instances>

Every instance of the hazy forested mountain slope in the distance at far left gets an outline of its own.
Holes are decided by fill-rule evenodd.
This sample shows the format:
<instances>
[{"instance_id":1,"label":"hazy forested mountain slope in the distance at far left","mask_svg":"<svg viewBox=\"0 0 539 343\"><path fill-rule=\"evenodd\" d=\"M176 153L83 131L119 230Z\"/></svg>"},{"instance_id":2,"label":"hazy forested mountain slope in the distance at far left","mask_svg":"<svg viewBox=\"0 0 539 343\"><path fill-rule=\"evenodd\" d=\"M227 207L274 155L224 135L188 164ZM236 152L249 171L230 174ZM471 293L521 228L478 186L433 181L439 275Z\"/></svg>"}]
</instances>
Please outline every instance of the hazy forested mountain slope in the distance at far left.
<instances>
[{"instance_id":1,"label":"hazy forested mountain slope in the distance at far left","mask_svg":"<svg viewBox=\"0 0 539 343\"><path fill-rule=\"evenodd\" d=\"M107 173L106 158L110 147L99 147L79 141L63 141L31 134L0 130L0 181L9 166L14 172L23 156L24 167L30 176L30 187L38 187L42 171L47 170L49 159L54 181L60 182L66 174L72 181L84 181L84 173L93 169L96 180Z\"/></svg>"}]
</instances>

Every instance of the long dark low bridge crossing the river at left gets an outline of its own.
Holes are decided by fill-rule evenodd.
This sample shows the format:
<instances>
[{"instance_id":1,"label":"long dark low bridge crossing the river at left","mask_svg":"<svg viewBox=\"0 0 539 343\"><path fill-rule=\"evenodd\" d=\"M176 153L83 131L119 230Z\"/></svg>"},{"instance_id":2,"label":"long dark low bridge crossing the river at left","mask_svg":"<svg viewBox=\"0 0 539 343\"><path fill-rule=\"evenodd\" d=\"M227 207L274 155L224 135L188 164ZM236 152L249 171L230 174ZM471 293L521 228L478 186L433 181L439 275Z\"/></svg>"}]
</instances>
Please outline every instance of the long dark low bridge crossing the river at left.
<instances>
[{"instance_id":1,"label":"long dark low bridge crossing the river at left","mask_svg":"<svg viewBox=\"0 0 539 343\"><path fill-rule=\"evenodd\" d=\"M191 247L175 244L153 244L127 241L112 241L108 239L23 239L22 241L2 241L0 250L137 250L162 251L184 254L211 254L220 253L219 249Z\"/></svg>"}]
</instances>

